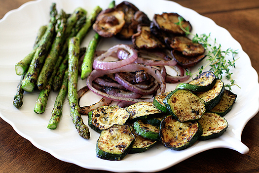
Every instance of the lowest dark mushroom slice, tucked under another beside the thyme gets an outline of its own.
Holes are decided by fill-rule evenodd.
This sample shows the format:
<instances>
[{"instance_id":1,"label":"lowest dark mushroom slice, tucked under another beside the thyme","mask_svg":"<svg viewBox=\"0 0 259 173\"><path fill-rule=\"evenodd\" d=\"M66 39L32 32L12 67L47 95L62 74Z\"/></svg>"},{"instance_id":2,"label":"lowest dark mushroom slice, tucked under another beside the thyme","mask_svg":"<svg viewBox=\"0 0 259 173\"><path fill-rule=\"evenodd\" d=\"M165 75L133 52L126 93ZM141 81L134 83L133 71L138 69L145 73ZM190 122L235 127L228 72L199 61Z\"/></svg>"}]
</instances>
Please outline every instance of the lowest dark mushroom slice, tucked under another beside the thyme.
<instances>
[{"instance_id":1,"label":"lowest dark mushroom slice, tucked under another beside the thyme","mask_svg":"<svg viewBox=\"0 0 259 173\"><path fill-rule=\"evenodd\" d=\"M185 67L185 68L195 66L197 63L199 63L206 57L205 54L195 55L195 56L185 56L185 55L183 55L182 52L179 52L177 50L172 50L171 53L172 53L174 60L180 66Z\"/></svg>"}]
</instances>

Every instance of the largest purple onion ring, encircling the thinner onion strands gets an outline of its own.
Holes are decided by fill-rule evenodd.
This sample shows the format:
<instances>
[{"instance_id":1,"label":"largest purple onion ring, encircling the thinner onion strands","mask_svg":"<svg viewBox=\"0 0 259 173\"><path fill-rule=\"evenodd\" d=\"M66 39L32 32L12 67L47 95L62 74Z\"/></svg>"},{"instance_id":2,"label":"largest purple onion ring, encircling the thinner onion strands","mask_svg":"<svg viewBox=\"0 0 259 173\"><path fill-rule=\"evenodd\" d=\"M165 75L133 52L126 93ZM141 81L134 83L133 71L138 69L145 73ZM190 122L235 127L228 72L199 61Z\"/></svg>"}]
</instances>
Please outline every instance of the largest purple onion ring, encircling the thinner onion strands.
<instances>
[{"instance_id":1,"label":"largest purple onion ring, encircling the thinner onion strands","mask_svg":"<svg viewBox=\"0 0 259 173\"><path fill-rule=\"evenodd\" d=\"M157 89L157 94L162 94L165 91L165 81L160 74L160 72L148 65L143 65L143 64L136 64L136 63L131 63L126 66L116 68L113 70L93 70L90 75L88 76L86 80L86 85L89 87L90 90L92 90L94 93L101 95L102 97L109 98L114 101L129 101L129 102L143 102L143 101L153 101L152 98L125 98L125 97L118 97L118 96L113 96L107 93L104 93L96 88L93 87L92 83L93 81L106 74L111 74L111 73L118 73L118 72L132 72L132 71L139 71L139 70L144 70L146 71L149 75L153 76L157 83L159 84L159 88ZM123 96L123 95L122 95Z\"/></svg>"}]
</instances>

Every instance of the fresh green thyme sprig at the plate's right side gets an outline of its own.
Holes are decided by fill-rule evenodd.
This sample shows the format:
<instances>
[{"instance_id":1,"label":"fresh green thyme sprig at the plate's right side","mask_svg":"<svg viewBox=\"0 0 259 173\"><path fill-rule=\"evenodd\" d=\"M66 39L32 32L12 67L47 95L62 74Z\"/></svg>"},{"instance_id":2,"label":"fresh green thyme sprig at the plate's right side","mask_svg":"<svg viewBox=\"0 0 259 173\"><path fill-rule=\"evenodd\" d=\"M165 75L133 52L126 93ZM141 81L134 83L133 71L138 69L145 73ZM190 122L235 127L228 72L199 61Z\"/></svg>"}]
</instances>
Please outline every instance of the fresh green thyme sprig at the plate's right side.
<instances>
[{"instance_id":1,"label":"fresh green thyme sprig at the plate's right side","mask_svg":"<svg viewBox=\"0 0 259 173\"><path fill-rule=\"evenodd\" d=\"M203 47L208 51L207 60L209 61L208 64L205 66L201 66L198 68L198 72L191 73L187 71L186 74L192 76L197 73L202 73L202 71L207 67L211 67L211 71L217 76L217 78L222 79L223 74L225 74L225 78L230 81L230 84L225 84L225 87L228 87L231 90L231 86L237 86L235 84L235 80L232 79L232 72L230 72L230 68L235 68L235 61L236 59L234 56L237 54L237 50L233 50L231 48L226 49L223 51L221 48L221 44L216 42L216 39L211 39L211 34L206 35L202 34L198 36L198 34L193 34L189 31L189 28L184 28L182 25L183 18L179 17L179 22L177 23L181 29L185 32L185 35L191 35L193 43L201 43ZM212 44L210 42L213 42ZM226 59L226 56L232 55L232 60ZM238 86L237 86L238 87Z\"/></svg>"}]
</instances>

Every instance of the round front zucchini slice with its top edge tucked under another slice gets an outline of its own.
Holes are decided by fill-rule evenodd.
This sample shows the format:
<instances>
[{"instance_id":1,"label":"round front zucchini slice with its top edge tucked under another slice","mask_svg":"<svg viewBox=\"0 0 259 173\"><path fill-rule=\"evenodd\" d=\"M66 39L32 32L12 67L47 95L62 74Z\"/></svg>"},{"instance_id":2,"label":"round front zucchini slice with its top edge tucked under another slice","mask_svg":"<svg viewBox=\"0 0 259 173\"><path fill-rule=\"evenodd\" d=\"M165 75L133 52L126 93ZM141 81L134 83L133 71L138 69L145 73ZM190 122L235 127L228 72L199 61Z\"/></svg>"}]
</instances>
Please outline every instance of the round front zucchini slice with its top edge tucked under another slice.
<instances>
[{"instance_id":1,"label":"round front zucchini slice with its top edge tucked under another slice","mask_svg":"<svg viewBox=\"0 0 259 173\"><path fill-rule=\"evenodd\" d=\"M202 128L198 121L181 123L169 115L161 122L159 136L165 147L183 150L195 143L201 133Z\"/></svg>"}]
</instances>

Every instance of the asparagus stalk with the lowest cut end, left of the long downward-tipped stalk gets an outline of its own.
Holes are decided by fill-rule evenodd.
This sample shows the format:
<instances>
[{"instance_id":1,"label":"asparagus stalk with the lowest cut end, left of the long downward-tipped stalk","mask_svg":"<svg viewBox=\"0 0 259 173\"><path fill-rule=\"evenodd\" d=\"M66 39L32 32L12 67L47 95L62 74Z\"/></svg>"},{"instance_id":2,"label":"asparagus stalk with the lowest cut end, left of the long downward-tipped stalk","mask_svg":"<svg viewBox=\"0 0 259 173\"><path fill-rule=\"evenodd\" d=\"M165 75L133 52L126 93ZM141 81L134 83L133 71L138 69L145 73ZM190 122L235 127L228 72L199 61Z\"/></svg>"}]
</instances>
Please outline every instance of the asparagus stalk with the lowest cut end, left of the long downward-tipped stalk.
<instances>
[{"instance_id":1,"label":"asparagus stalk with the lowest cut end, left of the long downward-tipped stalk","mask_svg":"<svg viewBox=\"0 0 259 173\"><path fill-rule=\"evenodd\" d=\"M68 70L66 70L65 72L62 86L55 100L54 107L51 112L51 118L48 123L48 129L54 130L57 128L60 122L60 118L62 116L62 107L67 93L68 93Z\"/></svg>"}]
</instances>

